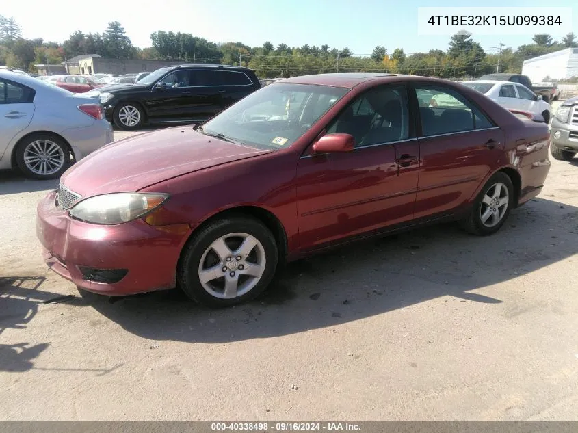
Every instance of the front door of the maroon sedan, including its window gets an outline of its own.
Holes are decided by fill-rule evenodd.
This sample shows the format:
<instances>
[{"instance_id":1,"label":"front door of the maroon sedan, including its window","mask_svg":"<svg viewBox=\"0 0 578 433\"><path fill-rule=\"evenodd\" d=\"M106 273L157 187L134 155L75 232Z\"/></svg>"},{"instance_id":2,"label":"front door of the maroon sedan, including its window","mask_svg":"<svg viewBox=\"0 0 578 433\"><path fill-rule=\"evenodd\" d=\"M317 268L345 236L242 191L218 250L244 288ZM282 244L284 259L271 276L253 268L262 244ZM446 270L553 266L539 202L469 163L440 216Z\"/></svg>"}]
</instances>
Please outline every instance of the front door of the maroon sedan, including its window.
<instances>
[{"instance_id":1,"label":"front door of the maroon sedan, including its window","mask_svg":"<svg viewBox=\"0 0 578 433\"><path fill-rule=\"evenodd\" d=\"M410 220L419 173L405 86L369 90L326 133L354 136L352 153L305 153L297 170L302 250Z\"/></svg>"}]
</instances>

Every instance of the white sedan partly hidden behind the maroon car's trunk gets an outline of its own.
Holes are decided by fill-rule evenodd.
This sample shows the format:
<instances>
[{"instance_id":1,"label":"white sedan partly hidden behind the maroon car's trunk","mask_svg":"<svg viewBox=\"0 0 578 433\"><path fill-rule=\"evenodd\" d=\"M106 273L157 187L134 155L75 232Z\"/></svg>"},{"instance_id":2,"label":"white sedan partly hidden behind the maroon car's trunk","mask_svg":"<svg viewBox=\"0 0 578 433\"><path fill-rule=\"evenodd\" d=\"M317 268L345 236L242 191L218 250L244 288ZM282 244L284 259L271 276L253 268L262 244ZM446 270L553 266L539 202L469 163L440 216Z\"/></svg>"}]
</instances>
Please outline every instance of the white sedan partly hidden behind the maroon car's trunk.
<instances>
[{"instance_id":1,"label":"white sedan partly hidden behind the maroon car's trunk","mask_svg":"<svg viewBox=\"0 0 578 433\"><path fill-rule=\"evenodd\" d=\"M473 88L493 99L507 109L518 109L541 115L546 123L552 118L552 107L523 84L510 81L477 80L464 81L464 86Z\"/></svg>"}]
</instances>

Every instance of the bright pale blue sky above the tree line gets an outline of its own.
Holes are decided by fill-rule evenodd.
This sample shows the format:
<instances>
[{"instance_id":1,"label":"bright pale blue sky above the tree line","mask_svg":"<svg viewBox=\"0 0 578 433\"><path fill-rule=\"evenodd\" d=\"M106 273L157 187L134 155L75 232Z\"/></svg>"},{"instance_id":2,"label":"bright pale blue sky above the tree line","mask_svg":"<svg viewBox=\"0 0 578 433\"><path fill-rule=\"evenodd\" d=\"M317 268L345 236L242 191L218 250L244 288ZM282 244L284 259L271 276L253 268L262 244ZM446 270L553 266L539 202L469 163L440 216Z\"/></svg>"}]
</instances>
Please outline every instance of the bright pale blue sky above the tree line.
<instances>
[{"instance_id":1,"label":"bright pale blue sky above the tree line","mask_svg":"<svg viewBox=\"0 0 578 433\"><path fill-rule=\"evenodd\" d=\"M447 0L0 0L0 14L23 27L23 37L63 42L75 30L101 32L109 21L120 21L137 47L150 46L153 31L181 31L213 42L244 42L261 46L270 41L290 47L328 44L348 47L356 55L369 55L376 45L391 53L447 49L450 36L419 36L418 7L462 7ZM485 0L483 5L572 7L575 0ZM477 5L480 5L479 3ZM521 9L522 10L522 9ZM578 34L578 8L573 9L572 29ZM564 34L554 34L556 40ZM531 35L473 34L488 52L503 43L515 49L531 43Z\"/></svg>"}]
</instances>

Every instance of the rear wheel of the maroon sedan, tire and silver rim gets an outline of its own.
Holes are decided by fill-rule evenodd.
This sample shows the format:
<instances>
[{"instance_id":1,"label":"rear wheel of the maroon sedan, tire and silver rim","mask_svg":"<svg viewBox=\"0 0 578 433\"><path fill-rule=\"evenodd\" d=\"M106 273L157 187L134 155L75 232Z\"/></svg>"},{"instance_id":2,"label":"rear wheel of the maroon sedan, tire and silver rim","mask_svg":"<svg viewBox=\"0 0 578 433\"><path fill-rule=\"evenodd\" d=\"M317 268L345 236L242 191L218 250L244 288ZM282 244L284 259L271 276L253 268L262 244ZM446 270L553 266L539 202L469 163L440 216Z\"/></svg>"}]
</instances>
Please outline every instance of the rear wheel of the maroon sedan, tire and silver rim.
<instances>
[{"instance_id":1,"label":"rear wheel of the maroon sedan, tire and silver rim","mask_svg":"<svg viewBox=\"0 0 578 433\"><path fill-rule=\"evenodd\" d=\"M499 196L495 194L496 185L500 185ZM493 198L496 198L499 202L491 202L490 200ZM489 205L486 200L488 200ZM505 209L503 209L504 205ZM512 179L510 179L508 174L497 172L490 177L480 194L475 198L470 214L462 220L462 228L473 235L493 235L499 231L505 220L508 219L513 206L514 185L512 184ZM492 207L496 211L492 212ZM486 220L483 218L486 218Z\"/></svg>"}]
</instances>

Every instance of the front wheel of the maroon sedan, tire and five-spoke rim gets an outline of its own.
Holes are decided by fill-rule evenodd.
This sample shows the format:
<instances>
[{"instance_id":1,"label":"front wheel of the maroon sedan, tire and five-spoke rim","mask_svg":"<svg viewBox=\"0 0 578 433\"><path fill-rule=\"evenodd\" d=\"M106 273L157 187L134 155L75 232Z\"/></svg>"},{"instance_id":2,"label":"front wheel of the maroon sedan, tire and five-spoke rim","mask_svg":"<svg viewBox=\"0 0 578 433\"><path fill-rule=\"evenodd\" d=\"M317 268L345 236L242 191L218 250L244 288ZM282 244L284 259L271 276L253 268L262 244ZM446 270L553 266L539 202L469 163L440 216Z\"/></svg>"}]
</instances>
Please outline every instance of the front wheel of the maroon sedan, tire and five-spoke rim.
<instances>
[{"instance_id":1,"label":"front wheel of the maroon sedan, tire and five-spoke rim","mask_svg":"<svg viewBox=\"0 0 578 433\"><path fill-rule=\"evenodd\" d=\"M254 246L243 250L245 241ZM271 282L277 262L278 248L269 229L254 218L230 215L189 239L179 261L177 283L199 304L224 308L259 296Z\"/></svg>"}]
</instances>

